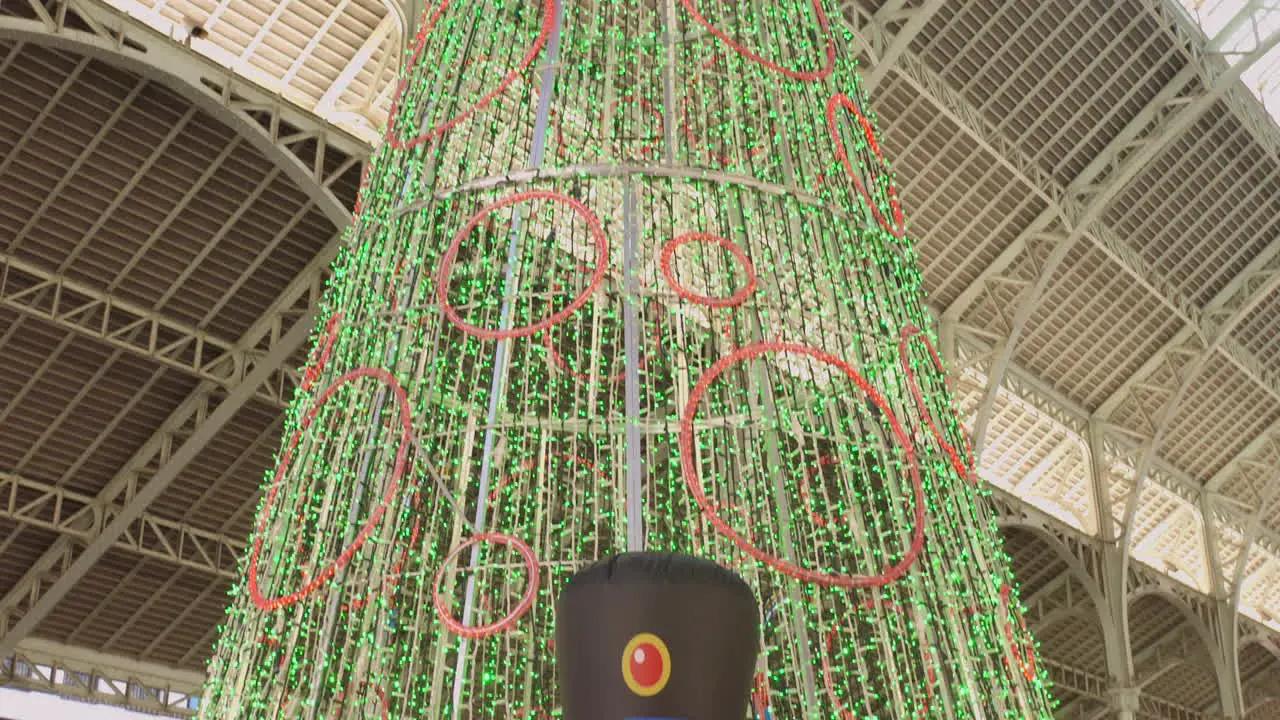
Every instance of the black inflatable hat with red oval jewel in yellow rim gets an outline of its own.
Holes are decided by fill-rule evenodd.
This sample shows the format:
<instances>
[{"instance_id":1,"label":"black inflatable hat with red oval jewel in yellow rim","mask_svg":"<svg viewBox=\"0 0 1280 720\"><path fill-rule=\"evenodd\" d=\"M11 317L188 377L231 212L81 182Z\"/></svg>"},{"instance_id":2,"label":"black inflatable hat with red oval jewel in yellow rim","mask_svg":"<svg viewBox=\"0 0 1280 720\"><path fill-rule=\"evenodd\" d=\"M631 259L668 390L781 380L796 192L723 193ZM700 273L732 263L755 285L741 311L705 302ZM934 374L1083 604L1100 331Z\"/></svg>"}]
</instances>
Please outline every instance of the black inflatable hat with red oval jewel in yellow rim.
<instances>
[{"instance_id":1,"label":"black inflatable hat with red oval jewel in yellow rim","mask_svg":"<svg viewBox=\"0 0 1280 720\"><path fill-rule=\"evenodd\" d=\"M710 560L631 552L557 605L564 720L741 720L760 650L751 588Z\"/></svg>"}]
</instances>

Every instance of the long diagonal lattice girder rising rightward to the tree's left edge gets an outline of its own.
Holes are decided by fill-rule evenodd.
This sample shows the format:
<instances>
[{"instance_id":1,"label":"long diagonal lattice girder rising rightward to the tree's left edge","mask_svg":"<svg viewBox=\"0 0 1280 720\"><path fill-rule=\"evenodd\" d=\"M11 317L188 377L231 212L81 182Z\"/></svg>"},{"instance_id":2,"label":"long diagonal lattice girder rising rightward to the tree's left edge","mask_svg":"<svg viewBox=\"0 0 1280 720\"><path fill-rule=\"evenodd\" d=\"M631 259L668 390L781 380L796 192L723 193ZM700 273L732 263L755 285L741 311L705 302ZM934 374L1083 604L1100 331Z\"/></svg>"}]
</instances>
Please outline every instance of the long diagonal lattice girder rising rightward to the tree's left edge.
<instances>
[{"instance_id":1,"label":"long diagonal lattice girder rising rightward to the tree's left edge","mask_svg":"<svg viewBox=\"0 0 1280 720\"><path fill-rule=\"evenodd\" d=\"M253 368L244 374L243 380L216 407L212 407L212 401L220 389L219 386L202 382L95 496L93 505L99 509L109 506L123 496L120 511L109 521L100 524L99 532L88 539L82 551L74 547L69 537L59 537L32 564L17 587L0 598L0 632L4 633L0 634L0 656L12 652L15 643L29 633L106 550L146 512L151 501L252 396L256 387L269 379L271 373L302 345L323 290L324 270L337 256L338 245L339 238L335 236L237 343L241 348L259 347L264 341L270 345L270 350L260 360L255 360ZM287 322L293 323L292 328L282 334ZM179 446L177 450L175 445ZM152 468L156 470L151 471ZM105 511L102 514L105 515ZM52 578L51 584L50 578ZM13 623L15 615L19 615L19 619Z\"/></svg>"}]
</instances>

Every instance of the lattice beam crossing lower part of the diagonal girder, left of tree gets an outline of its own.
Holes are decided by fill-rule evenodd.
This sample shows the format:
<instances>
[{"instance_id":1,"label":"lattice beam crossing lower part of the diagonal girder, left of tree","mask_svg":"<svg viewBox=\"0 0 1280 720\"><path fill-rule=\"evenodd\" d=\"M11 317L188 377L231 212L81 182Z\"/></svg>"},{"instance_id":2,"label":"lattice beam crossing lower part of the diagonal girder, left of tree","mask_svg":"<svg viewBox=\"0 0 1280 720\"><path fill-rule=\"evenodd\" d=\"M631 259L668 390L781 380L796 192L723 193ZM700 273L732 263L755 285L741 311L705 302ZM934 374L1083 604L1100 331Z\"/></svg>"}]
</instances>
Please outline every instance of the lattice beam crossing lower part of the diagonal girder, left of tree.
<instances>
[{"instance_id":1,"label":"lattice beam crossing lower part of the diagonal girder, left of tree","mask_svg":"<svg viewBox=\"0 0 1280 720\"><path fill-rule=\"evenodd\" d=\"M0 471L0 518L44 528L76 541L88 541L122 506L97 505L96 497L50 483ZM145 557L157 557L224 578L237 577L243 538L193 528L187 523L143 512L114 546Z\"/></svg>"}]
</instances>

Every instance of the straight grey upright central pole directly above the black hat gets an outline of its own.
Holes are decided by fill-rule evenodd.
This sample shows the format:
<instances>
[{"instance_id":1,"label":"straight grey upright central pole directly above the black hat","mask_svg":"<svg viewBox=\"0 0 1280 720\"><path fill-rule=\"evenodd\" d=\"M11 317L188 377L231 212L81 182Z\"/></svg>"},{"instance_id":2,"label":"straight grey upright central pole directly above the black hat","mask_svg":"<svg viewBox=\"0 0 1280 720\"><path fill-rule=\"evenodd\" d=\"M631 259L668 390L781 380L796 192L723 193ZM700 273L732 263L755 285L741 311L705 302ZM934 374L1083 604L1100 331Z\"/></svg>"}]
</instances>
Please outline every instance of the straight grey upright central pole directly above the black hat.
<instances>
[{"instance_id":1,"label":"straight grey upright central pole directly above the black hat","mask_svg":"<svg viewBox=\"0 0 1280 720\"><path fill-rule=\"evenodd\" d=\"M636 220L636 187L628 179L622 190L622 332L626 343L627 411L627 550L644 550L644 483L640 455L640 279L636 252L640 224Z\"/></svg>"}]
</instances>

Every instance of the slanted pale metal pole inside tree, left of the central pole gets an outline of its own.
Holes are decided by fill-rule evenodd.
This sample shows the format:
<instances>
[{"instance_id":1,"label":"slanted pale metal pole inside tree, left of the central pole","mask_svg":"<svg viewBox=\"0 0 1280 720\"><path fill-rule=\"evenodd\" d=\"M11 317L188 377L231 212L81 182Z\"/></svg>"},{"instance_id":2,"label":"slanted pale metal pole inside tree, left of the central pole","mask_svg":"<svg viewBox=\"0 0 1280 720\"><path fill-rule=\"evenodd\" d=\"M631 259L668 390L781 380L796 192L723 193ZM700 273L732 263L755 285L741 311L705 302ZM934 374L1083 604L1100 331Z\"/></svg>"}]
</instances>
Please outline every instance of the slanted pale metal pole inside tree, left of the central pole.
<instances>
[{"instance_id":1,"label":"slanted pale metal pole inside tree, left of the central pole","mask_svg":"<svg viewBox=\"0 0 1280 720\"><path fill-rule=\"evenodd\" d=\"M538 94L538 119L534 123L534 145L529 152L530 167L539 167L543 164L543 156L547 151L547 127L550 124L550 111L552 111L552 92L556 87L556 65L559 61L559 40L561 40L561 24L564 19L564 8L562 0L556 0L556 22L552 29L550 38L547 41L547 55L545 64L543 65L541 85ZM512 218L511 223L511 243L507 246L507 274L503 279L502 287L502 315L499 320L500 328L511 327L511 297L515 296L517 290L516 266L520 263L520 237L521 237L521 215L517 213ZM502 395L506 388L507 377L507 356L509 354L509 343L504 340L498 341L498 346L493 351L493 382L489 384L489 410L485 421L484 432L484 451L480 461L480 491L476 496L476 514L475 523L472 524L472 532L480 533L484 530L484 518L485 518L485 497L489 496L489 473L493 469L493 448L497 442L497 430L494 427L498 421L498 407L502 405ZM467 574L467 589L466 598L462 605L462 624L470 625L471 618L475 614L475 593L476 593L476 565L480 562L480 546L471 547L471 560L470 560L470 573ZM462 688L466 685L466 670L467 664L467 638L458 638L458 661L454 665L453 673L453 720L457 720L458 712L462 707Z\"/></svg>"}]
</instances>

